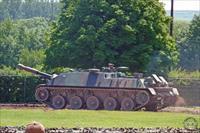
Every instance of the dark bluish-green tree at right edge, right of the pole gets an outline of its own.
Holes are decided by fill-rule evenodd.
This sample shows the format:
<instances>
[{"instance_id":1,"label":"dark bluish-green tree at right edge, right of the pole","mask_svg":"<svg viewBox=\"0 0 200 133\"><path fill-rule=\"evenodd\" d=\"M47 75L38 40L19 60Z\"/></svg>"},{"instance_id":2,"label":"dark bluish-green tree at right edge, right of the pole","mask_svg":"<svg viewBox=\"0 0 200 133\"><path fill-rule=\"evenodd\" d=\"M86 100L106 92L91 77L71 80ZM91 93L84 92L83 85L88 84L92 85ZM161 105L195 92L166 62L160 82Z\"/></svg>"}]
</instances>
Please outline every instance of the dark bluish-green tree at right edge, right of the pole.
<instances>
[{"instance_id":1,"label":"dark bluish-green tree at right edge, right of the pole","mask_svg":"<svg viewBox=\"0 0 200 133\"><path fill-rule=\"evenodd\" d=\"M200 15L194 16L187 38L180 44L180 66L200 70Z\"/></svg>"}]
</instances>

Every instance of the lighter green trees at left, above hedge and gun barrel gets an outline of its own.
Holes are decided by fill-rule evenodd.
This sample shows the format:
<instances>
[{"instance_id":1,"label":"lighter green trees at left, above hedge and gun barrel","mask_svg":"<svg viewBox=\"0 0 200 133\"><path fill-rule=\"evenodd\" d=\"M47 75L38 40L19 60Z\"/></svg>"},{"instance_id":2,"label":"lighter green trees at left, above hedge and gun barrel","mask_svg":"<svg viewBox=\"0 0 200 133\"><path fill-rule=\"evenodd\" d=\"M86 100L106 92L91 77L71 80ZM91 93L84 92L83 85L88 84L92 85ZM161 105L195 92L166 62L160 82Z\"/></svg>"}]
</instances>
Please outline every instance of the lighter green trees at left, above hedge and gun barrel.
<instances>
[{"instance_id":1,"label":"lighter green trees at left, above hedge and gun barrel","mask_svg":"<svg viewBox=\"0 0 200 133\"><path fill-rule=\"evenodd\" d=\"M42 66L47 30L48 22L44 18L0 22L0 68L15 68L19 62Z\"/></svg>"}]
</instances>

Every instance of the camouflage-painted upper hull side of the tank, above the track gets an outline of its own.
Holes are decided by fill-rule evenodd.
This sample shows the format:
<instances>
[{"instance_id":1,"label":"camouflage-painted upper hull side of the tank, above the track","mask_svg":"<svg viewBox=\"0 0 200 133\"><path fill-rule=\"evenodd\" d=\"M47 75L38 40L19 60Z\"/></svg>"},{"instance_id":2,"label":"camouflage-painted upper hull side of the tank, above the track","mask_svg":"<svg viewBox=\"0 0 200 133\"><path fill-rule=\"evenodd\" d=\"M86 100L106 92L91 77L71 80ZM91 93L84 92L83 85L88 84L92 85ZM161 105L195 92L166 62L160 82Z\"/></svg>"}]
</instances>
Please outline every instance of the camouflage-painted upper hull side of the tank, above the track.
<instances>
[{"instance_id":1,"label":"camouflage-painted upper hull side of the tank, above the track","mask_svg":"<svg viewBox=\"0 0 200 133\"><path fill-rule=\"evenodd\" d=\"M106 72L70 72L56 76L49 85L87 86L87 87L125 87L145 88L142 80L119 77L117 73Z\"/></svg>"}]
</instances>

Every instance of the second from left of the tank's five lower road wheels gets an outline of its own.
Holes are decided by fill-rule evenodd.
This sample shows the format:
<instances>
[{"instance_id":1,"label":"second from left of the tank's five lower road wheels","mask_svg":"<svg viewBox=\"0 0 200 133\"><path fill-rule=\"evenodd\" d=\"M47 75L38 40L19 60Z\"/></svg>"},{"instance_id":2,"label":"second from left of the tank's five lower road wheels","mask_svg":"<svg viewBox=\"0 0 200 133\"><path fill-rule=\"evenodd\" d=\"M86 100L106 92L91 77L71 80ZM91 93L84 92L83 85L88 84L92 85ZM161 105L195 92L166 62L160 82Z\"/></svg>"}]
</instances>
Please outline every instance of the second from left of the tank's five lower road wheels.
<instances>
[{"instance_id":1,"label":"second from left of the tank's five lower road wheels","mask_svg":"<svg viewBox=\"0 0 200 133\"><path fill-rule=\"evenodd\" d=\"M73 96L69 103L72 109L80 109L83 106L83 101L79 96Z\"/></svg>"}]
</instances>

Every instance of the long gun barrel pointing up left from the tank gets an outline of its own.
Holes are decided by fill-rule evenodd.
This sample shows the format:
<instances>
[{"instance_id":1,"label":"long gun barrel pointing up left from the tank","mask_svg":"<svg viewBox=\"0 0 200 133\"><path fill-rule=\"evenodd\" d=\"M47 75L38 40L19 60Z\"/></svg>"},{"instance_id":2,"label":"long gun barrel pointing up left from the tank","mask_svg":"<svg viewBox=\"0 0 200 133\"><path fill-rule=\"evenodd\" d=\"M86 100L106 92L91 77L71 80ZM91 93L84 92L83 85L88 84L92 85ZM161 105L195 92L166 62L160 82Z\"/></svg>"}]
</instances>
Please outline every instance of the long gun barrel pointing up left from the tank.
<instances>
[{"instance_id":1,"label":"long gun barrel pointing up left from the tank","mask_svg":"<svg viewBox=\"0 0 200 133\"><path fill-rule=\"evenodd\" d=\"M23 64L18 64L17 66L18 66L19 69L25 70L27 72L31 72L31 73L36 74L36 75L41 75L44 78L50 79L52 77L52 75L50 75L48 73L40 72L37 69L31 68L29 66L25 66Z\"/></svg>"}]
</instances>

